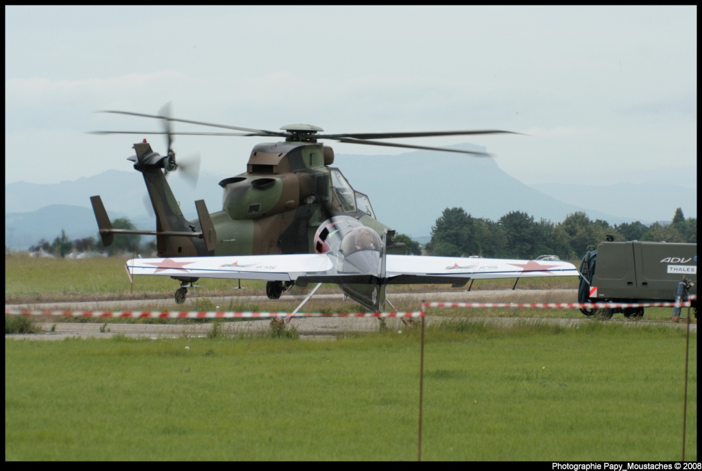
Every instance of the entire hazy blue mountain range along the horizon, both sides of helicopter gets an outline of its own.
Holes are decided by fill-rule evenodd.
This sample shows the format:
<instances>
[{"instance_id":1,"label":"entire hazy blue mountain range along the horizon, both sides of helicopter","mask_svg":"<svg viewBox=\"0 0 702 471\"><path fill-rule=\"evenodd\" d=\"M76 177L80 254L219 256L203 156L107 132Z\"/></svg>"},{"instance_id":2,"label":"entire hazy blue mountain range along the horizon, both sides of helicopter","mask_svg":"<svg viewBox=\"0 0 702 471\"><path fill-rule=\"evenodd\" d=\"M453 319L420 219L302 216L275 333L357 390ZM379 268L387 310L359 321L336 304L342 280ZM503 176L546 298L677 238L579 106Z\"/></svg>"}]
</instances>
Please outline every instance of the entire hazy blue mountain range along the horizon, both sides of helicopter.
<instances>
[{"instance_id":1,"label":"entire hazy blue mountain range along the horizon, both sides of helicopter","mask_svg":"<svg viewBox=\"0 0 702 471\"><path fill-rule=\"evenodd\" d=\"M456 147L485 150L472 144ZM672 184L527 186L500 170L491 158L472 158L459 153L337 154L332 166L343 172L354 189L369 196L380 221L420 241L427 240L431 226L446 207L463 207L473 217L493 221L508 212L522 211L536 220L548 219L554 223L577 211L610 224L669 221L677 207L682 207L685 217L696 217L697 212L696 189ZM204 199L210 212L221 209L220 179L202 173L197 189L187 186L178 175L168 182L185 217L194 219L197 217L194 200ZM143 178L133 170L109 170L58 184L6 184L6 245L27 249L41 238L53 240L62 229L70 238L97 236L98 227L90 205L93 195L102 197L110 218L129 217L138 228L155 228L154 219L145 207Z\"/></svg>"}]
</instances>

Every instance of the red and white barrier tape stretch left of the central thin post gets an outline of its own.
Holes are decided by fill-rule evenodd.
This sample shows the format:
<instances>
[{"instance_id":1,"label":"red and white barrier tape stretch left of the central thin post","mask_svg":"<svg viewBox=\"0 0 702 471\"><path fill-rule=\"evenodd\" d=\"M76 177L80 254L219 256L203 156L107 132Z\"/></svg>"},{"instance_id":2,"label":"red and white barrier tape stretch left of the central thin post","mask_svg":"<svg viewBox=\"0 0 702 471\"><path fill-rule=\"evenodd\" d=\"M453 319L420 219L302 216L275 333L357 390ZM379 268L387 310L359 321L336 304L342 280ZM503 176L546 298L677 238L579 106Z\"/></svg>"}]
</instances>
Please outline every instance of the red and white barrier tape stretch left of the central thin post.
<instances>
[{"instance_id":1,"label":"red and white barrier tape stretch left of the central thin post","mask_svg":"<svg viewBox=\"0 0 702 471\"><path fill-rule=\"evenodd\" d=\"M258 319L286 318L290 313L256 313L227 311L132 311L132 310L5 310L6 315L65 315L74 318L163 318L163 319ZM424 311L405 313L296 313L293 317L304 318L421 318Z\"/></svg>"}]
</instances>

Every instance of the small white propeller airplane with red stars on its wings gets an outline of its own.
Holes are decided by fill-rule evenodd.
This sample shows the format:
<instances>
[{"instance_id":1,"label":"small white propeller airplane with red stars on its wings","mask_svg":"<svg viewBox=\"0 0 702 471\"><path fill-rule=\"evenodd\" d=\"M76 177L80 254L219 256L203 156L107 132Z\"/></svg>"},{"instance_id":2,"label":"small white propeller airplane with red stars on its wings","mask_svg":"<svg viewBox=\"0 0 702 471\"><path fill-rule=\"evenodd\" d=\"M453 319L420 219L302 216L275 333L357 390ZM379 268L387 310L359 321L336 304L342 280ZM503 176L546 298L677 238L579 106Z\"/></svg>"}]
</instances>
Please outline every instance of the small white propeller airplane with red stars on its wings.
<instances>
[{"instance_id":1,"label":"small white propeller airplane with red stars on its wings","mask_svg":"<svg viewBox=\"0 0 702 471\"><path fill-rule=\"evenodd\" d=\"M445 283L461 287L468 280L580 275L566 261L386 254L385 236L381 240L376 231L349 216L334 216L321 224L314 236L314 249L314 254L131 259L126 268L130 276L172 276L189 278L191 283L198 278L266 280L270 299L279 298L293 285L317 283L293 313L322 283L338 284L351 299L378 312L386 302L394 309L385 296L387 285Z\"/></svg>"}]
</instances>

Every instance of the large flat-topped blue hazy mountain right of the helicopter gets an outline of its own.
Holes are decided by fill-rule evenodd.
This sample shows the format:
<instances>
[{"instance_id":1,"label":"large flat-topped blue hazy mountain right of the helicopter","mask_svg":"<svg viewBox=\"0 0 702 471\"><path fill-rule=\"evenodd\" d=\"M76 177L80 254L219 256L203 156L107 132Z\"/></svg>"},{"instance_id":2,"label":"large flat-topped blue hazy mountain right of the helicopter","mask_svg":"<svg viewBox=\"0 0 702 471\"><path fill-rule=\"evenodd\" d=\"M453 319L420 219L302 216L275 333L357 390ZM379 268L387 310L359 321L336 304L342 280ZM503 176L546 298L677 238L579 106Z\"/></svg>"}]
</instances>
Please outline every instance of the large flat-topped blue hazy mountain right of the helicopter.
<instances>
[{"instance_id":1,"label":"large flat-topped blue hazy mountain right of the helicopter","mask_svg":"<svg viewBox=\"0 0 702 471\"><path fill-rule=\"evenodd\" d=\"M454 147L485 151L471 144ZM510 177L491 158L415 151L399 156L337 156L334 165L357 191L369 196L380 221L415 239L430 235L446 207L463 207L472 217L492 221L511 211L554 223L578 211L611 224L635 220L626 212L612 214L564 203Z\"/></svg>"}]
</instances>

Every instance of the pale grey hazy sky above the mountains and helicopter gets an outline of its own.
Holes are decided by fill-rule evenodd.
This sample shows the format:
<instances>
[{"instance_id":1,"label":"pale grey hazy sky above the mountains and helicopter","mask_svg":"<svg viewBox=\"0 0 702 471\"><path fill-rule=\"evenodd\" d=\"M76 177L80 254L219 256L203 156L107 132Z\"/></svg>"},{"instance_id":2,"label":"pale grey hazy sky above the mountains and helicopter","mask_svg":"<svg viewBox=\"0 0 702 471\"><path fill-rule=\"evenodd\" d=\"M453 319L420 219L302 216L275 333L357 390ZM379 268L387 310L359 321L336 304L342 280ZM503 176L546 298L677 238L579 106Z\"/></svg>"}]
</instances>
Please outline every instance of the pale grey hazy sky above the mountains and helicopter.
<instances>
[{"instance_id":1,"label":"pale grey hazy sky above the mountains and helicopter","mask_svg":"<svg viewBox=\"0 0 702 471\"><path fill-rule=\"evenodd\" d=\"M159 122L94 111L171 102L270 130L510 130L527 136L396 140L485 146L527 184L696 187L696 6L6 6L5 40L6 183L131 170L144 135L86 132ZM174 144L230 177L268 140Z\"/></svg>"}]
</instances>

